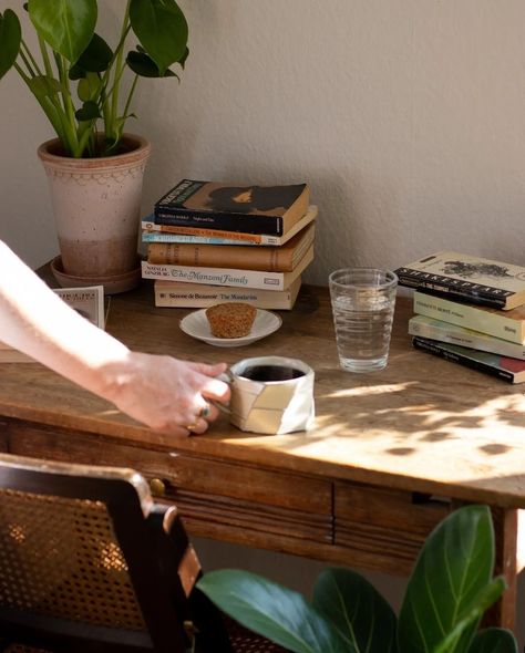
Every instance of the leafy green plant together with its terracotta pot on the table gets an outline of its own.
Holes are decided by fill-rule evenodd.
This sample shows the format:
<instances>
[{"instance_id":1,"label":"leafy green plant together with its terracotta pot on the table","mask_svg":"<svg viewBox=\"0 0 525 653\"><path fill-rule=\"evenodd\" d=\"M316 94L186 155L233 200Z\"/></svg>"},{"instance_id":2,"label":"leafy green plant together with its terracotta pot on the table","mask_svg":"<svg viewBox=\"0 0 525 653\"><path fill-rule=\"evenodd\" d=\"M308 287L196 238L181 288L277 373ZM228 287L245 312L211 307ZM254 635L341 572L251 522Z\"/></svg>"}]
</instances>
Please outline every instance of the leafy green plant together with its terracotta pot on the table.
<instances>
[{"instance_id":1,"label":"leafy green plant together with its terracotta pot on the table","mask_svg":"<svg viewBox=\"0 0 525 653\"><path fill-rule=\"evenodd\" d=\"M0 13L0 77L14 69L56 134L38 149L61 250L53 271L64 284L85 279L125 289L123 280L140 278L140 200L151 152L125 125L134 117L138 77L177 77L169 66L184 66L186 19L175 0L127 0L111 48L95 31L96 0L29 0L24 8L39 54L7 9Z\"/></svg>"}]
</instances>

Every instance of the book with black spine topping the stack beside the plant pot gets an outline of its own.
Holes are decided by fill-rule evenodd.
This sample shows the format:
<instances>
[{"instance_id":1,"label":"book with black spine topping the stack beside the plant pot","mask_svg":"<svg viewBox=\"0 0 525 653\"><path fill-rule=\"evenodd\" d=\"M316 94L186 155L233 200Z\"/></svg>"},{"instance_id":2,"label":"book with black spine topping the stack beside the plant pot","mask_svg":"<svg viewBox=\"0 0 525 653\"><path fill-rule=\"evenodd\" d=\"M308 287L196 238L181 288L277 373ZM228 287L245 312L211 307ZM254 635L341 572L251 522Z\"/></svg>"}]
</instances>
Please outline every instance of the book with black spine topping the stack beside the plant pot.
<instances>
[{"instance_id":1,"label":"book with black spine topping the stack beside the plant pot","mask_svg":"<svg viewBox=\"0 0 525 653\"><path fill-rule=\"evenodd\" d=\"M238 186L183 179L155 203L157 225L282 236L307 213L306 184Z\"/></svg>"}]
</instances>

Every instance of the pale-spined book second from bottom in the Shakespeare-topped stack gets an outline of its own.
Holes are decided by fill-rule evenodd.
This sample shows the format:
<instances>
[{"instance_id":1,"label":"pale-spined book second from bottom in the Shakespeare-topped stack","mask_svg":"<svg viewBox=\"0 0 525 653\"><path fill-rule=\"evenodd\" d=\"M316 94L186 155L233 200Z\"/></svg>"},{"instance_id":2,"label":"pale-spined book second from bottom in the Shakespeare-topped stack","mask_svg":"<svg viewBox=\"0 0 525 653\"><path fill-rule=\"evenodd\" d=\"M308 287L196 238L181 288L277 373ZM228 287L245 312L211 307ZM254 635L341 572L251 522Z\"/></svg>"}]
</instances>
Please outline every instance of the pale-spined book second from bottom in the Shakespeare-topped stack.
<instances>
[{"instance_id":1,"label":"pale-spined book second from bottom in the Shakespeare-topped stack","mask_svg":"<svg viewBox=\"0 0 525 653\"><path fill-rule=\"evenodd\" d=\"M481 333L481 331L473 331L472 329L465 329L425 315L414 315L409 320L409 333L428 340L439 340L469 349L501 354L511 359L525 360L525 345L523 344L508 342L501 338Z\"/></svg>"}]
</instances>

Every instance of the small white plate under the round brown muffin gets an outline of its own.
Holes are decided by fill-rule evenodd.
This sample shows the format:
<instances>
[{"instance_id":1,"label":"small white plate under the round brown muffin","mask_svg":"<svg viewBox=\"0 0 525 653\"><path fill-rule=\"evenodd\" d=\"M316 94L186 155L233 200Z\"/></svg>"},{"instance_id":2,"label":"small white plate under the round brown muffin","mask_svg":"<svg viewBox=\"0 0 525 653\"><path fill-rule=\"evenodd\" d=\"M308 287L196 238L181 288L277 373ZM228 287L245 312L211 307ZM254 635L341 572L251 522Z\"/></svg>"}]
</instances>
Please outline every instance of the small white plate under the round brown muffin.
<instances>
[{"instance_id":1,"label":"small white plate under the round brown muffin","mask_svg":"<svg viewBox=\"0 0 525 653\"><path fill-rule=\"evenodd\" d=\"M281 324L282 319L279 315L262 309L257 309L251 331L249 335L243 338L215 338L212 335L208 319L206 318L206 309L189 313L178 323L184 333L215 346L244 346L274 333Z\"/></svg>"}]
</instances>

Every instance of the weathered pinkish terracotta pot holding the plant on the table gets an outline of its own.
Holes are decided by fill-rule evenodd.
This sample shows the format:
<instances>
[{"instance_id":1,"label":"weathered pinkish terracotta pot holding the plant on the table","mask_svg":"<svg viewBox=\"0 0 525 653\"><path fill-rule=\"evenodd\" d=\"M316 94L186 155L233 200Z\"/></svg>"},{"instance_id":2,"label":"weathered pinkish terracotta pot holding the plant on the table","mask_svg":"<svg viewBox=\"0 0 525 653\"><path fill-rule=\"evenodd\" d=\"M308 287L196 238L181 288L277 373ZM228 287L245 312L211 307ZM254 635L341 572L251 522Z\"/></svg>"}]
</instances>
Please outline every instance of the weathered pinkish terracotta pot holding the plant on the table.
<instances>
[{"instance_id":1,"label":"weathered pinkish terracotta pot holding the plant on the table","mask_svg":"<svg viewBox=\"0 0 525 653\"><path fill-rule=\"evenodd\" d=\"M61 271L86 283L135 269L140 279L142 182L151 145L132 134L122 145L122 154L101 158L62 156L56 138L38 149L50 183Z\"/></svg>"}]
</instances>

